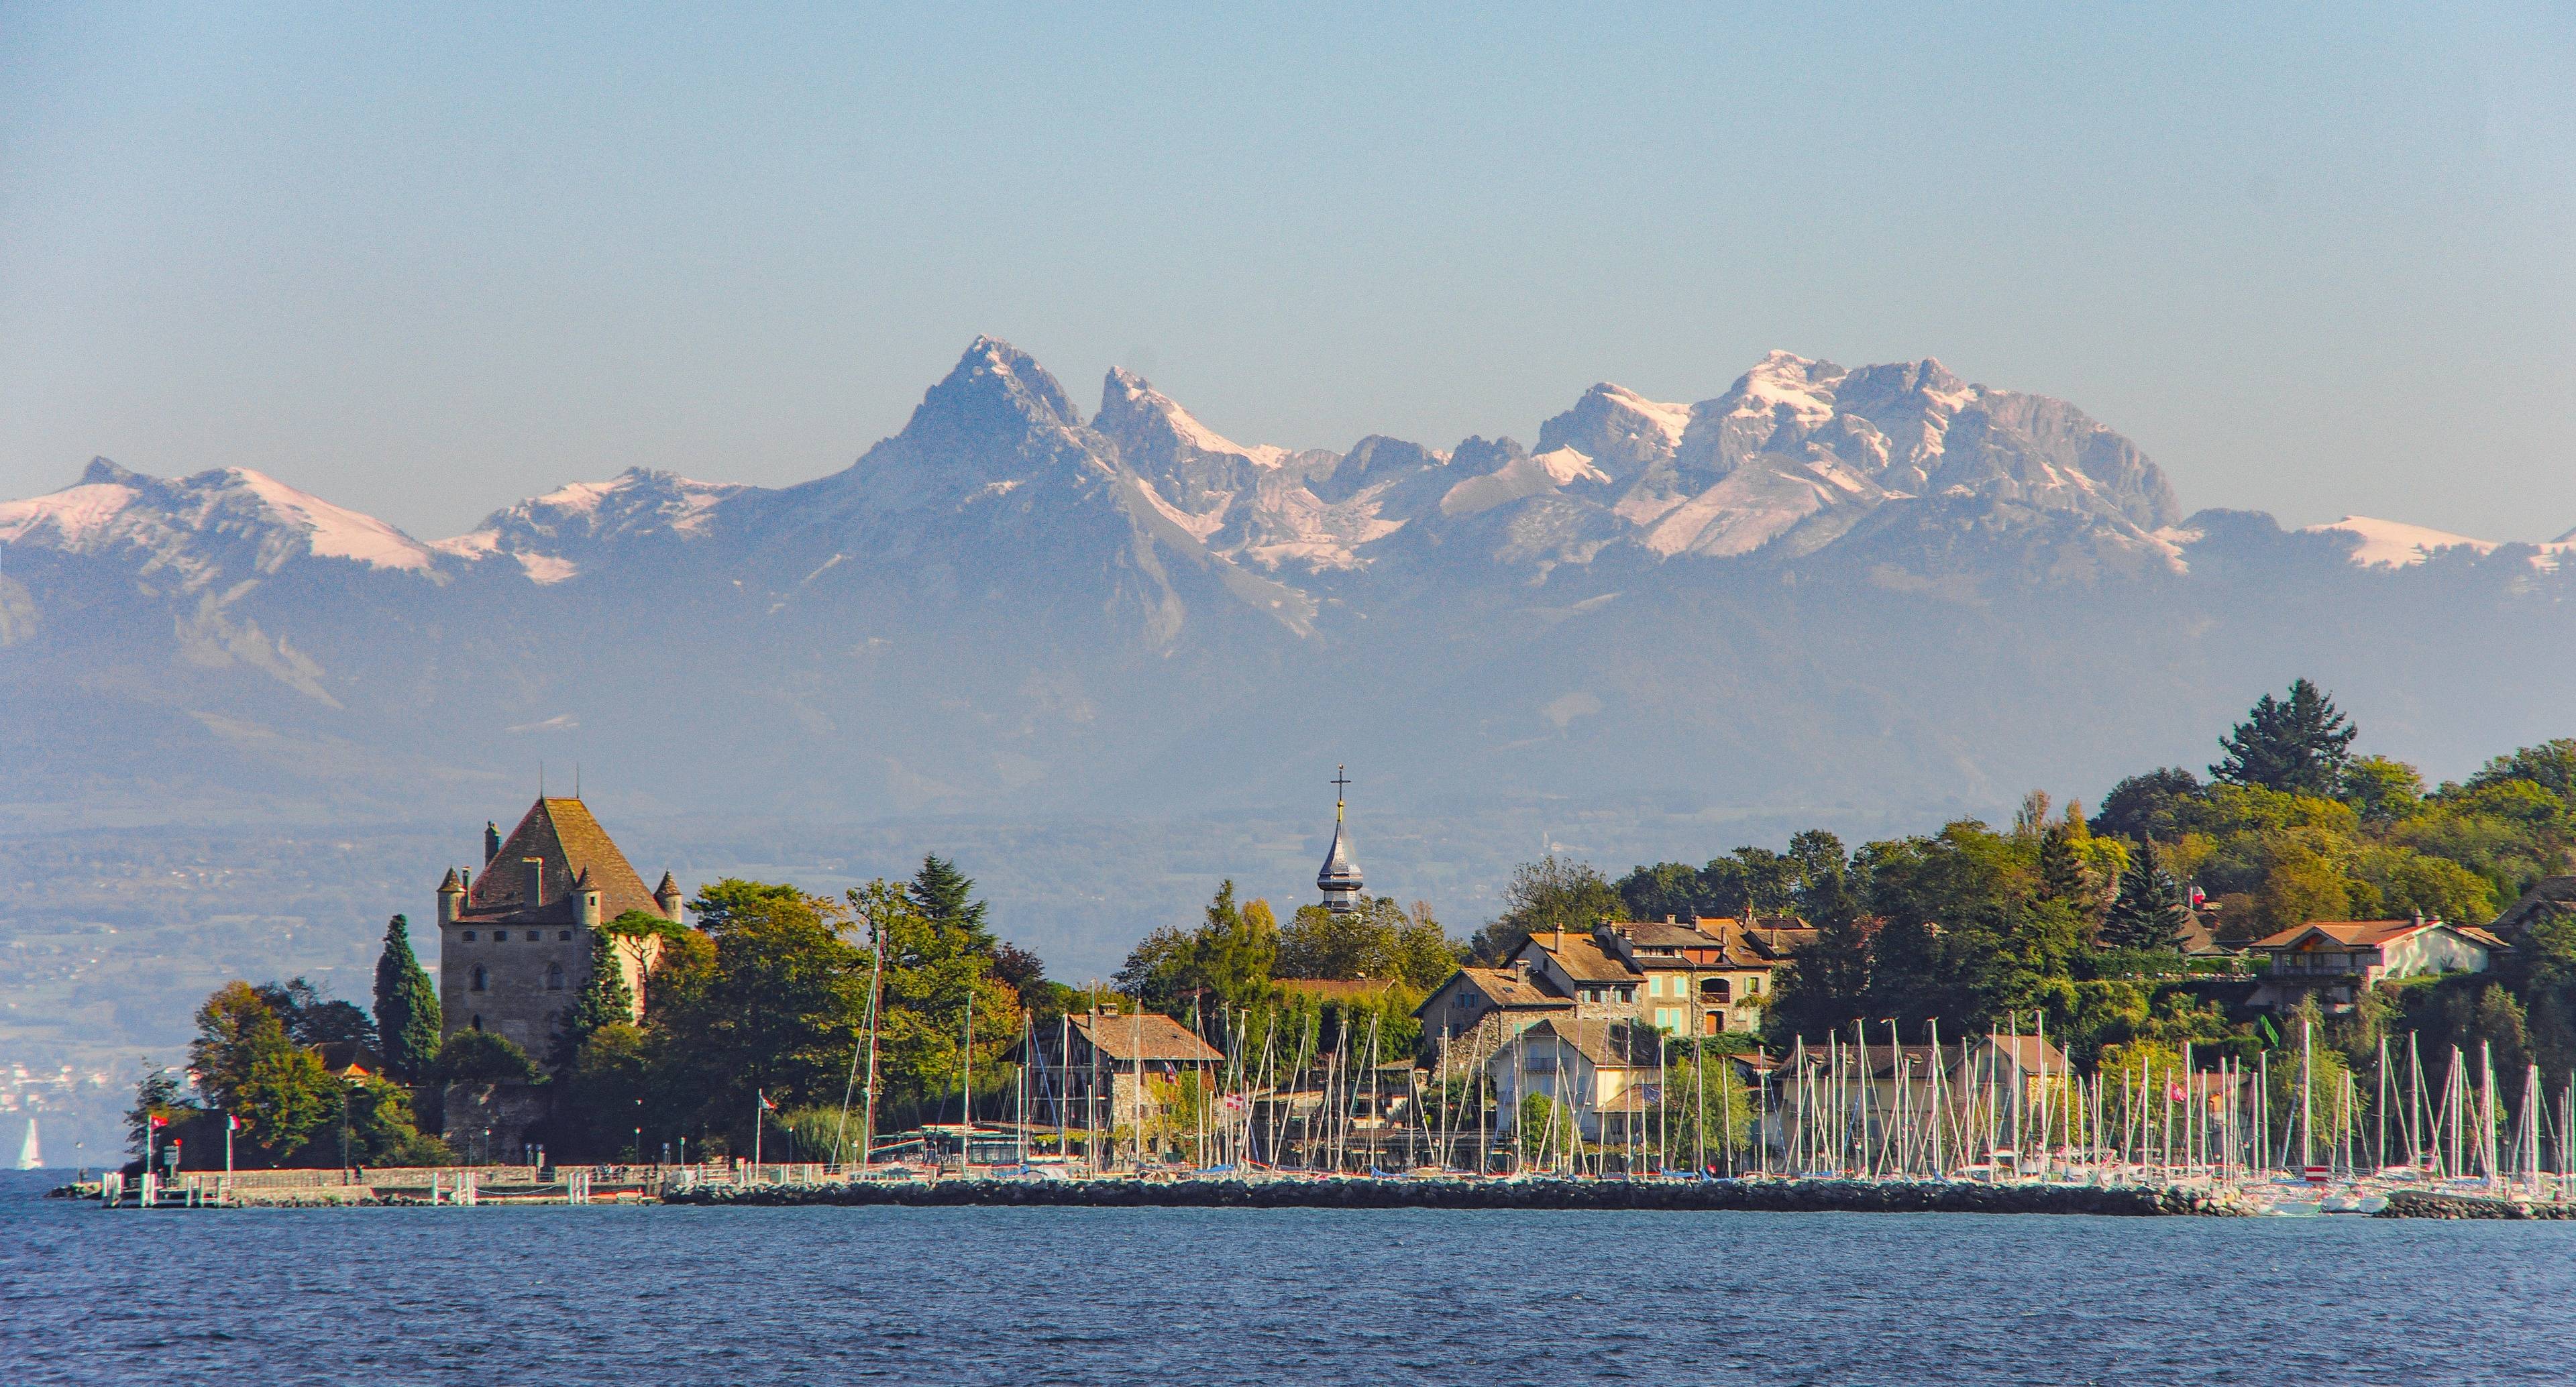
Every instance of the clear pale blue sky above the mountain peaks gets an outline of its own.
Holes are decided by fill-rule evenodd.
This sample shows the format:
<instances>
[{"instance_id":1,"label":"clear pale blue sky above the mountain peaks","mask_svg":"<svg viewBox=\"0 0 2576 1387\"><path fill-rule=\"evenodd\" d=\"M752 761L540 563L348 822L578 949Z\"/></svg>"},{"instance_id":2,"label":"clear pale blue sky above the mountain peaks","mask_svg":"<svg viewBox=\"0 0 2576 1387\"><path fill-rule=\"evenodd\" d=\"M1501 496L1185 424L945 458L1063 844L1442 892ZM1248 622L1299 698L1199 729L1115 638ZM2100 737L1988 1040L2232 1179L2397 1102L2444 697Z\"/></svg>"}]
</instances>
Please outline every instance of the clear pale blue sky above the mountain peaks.
<instances>
[{"instance_id":1,"label":"clear pale blue sky above the mountain peaks","mask_svg":"<svg viewBox=\"0 0 2576 1387\"><path fill-rule=\"evenodd\" d=\"M992 332L1288 448L1940 358L2576 528L2571 8L714 10L0 3L0 497L788 484Z\"/></svg>"}]
</instances>

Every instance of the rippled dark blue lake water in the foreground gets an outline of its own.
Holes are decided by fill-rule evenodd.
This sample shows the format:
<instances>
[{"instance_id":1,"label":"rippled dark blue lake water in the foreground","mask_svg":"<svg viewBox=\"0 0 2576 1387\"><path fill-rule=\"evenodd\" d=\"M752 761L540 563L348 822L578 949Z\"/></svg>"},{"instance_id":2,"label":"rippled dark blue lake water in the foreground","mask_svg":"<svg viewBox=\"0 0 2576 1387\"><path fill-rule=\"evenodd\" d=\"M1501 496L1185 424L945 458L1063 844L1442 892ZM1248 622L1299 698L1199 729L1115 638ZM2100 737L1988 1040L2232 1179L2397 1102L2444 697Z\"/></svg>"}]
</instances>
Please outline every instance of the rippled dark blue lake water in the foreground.
<instances>
[{"instance_id":1,"label":"rippled dark blue lake water in the foreground","mask_svg":"<svg viewBox=\"0 0 2576 1387\"><path fill-rule=\"evenodd\" d=\"M2568 1382L2576 1225L1329 1209L100 1212L0 1382Z\"/></svg>"}]
</instances>

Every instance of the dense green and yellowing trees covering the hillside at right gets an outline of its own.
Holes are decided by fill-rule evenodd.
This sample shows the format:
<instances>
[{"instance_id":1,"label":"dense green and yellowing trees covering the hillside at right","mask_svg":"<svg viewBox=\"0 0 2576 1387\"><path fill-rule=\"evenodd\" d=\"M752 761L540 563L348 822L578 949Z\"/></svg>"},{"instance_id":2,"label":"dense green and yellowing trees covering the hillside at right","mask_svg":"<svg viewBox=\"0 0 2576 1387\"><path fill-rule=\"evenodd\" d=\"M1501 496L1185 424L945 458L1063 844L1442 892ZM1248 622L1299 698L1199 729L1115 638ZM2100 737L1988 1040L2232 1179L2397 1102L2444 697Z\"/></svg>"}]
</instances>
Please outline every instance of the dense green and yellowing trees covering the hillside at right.
<instances>
[{"instance_id":1,"label":"dense green and yellowing trees covering the hillside at right","mask_svg":"<svg viewBox=\"0 0 2576 1387\"><path fill-rule=\"evenodd\" d=\"M2226 944L2316 919L2486 924L2566 872L2576 847L2576 739L2432 790L2354 741L2334 700L2300 679L2221 739L2208 780L2143 772L2089 818L2032 793L2009 829L1958 821L1857 849L1808 831L1785 852L1643 865L1610 890L1631 919L1780 911L1814 924L1816 942L1772 993L1775 1045L1893 1016L1917 1040L1932 1022L1947 1037L2045 1022L2084 1063L2182 1042L2251 1052L2277 1045L2280 1027L2239 1004L2246 986L2192 978L2177 952L2195 893ZM1602 908L1577 890L1589 883L1556 901ZM2519 1076L2530 1058L2561 1083L2576 1063L2576 924L2548 916L2512 944L2491 973L2383 986L2349 1016L2316 1022L2354 1063L2383 1034L2416 1032L2434 1052L2491 1042L2499 1070Z\"/></svg>"}]
</instances>

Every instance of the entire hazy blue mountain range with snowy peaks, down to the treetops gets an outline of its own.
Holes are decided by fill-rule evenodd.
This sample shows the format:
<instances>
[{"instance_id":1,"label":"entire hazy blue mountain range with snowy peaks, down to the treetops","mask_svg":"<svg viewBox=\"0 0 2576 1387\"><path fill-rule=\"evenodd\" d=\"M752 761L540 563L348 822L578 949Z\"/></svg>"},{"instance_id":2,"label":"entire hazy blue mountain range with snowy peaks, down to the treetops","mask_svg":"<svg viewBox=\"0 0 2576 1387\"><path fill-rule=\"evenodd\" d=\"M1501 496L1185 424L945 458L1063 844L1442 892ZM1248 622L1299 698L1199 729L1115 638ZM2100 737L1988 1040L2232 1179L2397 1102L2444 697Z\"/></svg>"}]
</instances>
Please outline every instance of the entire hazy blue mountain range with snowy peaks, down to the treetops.
<instances>
[{"instance_id":1,"label":"entire hazy blue mountain range with snowy peaks, down to the treetops","mask_svg":"<svg viewBox=\"0 0 2576 1387\"><path fill-rule=\"evenodd\" d=\"M2115 430L1937 360L1332 453L1128 371L1084 419L981 337L832 476L636 468L443 540L95 461L0 504L0 751L31 813L469 798L541 741L665 808L1260 800L1363 754L1425 803L1981 805L2298 672L2447 746L2442 651L2576 648L2571 543L2184 517Z\"/></svg>"}]
</instances>

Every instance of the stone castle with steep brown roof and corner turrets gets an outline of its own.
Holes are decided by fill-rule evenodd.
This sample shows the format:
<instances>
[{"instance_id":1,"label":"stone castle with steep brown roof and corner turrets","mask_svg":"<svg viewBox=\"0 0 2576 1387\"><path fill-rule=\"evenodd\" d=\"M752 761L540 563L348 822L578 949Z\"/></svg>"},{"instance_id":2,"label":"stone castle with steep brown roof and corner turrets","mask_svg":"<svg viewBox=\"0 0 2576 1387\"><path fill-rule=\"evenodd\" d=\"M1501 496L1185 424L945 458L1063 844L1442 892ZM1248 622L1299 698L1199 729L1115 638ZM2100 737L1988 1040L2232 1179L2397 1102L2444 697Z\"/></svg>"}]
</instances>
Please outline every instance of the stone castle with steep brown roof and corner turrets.
<instances>
[{"instance_id":1,"label":"stone castle with steep brown roof and corner turrets","mask_svg":"<svg viewBox=\"0 0 2576 1387\"><path fill-rule=\"evenodd\" d=\"M448 867L438 883L440 1040L482 1029L544 1063L590 983L595 932L629 911L677 924L680 883L662 872L647 890L580 798L538 798L507 839L497 823L484 823L482 870ZM659 939L618 939L611 950L636 1019L654 944ZM544 1096L518 1091L523 1086L456 1088L464 1091L446 1104L448 1143L479 1148L484 1161L518 1158L528 1127L544 1119Z\"/></svg>"}]
</instances>

